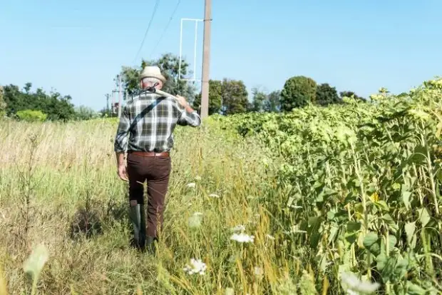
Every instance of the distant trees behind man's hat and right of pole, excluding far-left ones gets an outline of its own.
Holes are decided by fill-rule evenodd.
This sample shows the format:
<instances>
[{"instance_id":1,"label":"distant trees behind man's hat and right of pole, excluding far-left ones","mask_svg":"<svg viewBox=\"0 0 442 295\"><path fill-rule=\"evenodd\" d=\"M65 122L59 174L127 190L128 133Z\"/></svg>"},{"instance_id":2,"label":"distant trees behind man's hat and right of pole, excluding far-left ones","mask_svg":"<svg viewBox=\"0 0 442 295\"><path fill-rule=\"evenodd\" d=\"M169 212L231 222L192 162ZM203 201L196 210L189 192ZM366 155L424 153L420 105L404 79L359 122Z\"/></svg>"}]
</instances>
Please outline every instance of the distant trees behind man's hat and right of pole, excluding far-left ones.
<instances>
[{"instance_id":1,"label":"distant trees behind man's hat and right of pole, excluding far-left ones","mask_svg":"<svg viewBox=\"0 0 442 295\"><path fill-rule=\"evenodd\" d=\"M123 89L131 96L140 90L138 76L146 65L155 65L167 79L163 90L173 94L185 96L194 109L200 109L201 92L197 93L195 86L188 81L179 78L192 75L189 64L185 59L181 60L173 54L163 54L160 59L141 61L139 67L123 66L120 75L123 81ZM341 104L344 97L354 97L366 101L353 91L338 91L336 87L327 83L317 84L312 78L306 76L293 76L285 81L281 90L271 92L258 87L252 88L252 100L249 100L247 87L242 80L227 79L209 81L209 114L239 114L250 111L257 112L281 112L292 111L307 104L328 106L329 104Z\"/></svg>"}]
</instances>

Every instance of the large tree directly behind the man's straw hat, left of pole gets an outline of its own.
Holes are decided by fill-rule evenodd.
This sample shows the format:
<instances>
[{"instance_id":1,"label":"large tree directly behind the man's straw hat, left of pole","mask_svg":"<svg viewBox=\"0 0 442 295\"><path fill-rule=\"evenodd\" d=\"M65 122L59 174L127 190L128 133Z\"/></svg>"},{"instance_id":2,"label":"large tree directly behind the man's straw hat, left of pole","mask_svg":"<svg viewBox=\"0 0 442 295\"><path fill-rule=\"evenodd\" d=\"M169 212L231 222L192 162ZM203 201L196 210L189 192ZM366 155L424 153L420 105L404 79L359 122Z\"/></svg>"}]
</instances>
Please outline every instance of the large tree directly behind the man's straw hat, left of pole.
<instances>
[{"instance_id":1,"label":"large tree directly behind the man's straw hat, left of pole","mask_svg":"<svg viewBox=\"0 0 442 295\"><path fill-rule=\"evenodd\" d=\"M140 74L144 67L158 66L163 76L165 76L165 84L163 85L163 91L172 95L181 95L192 102L195 99L195 86L188 81L178 79L180 71L180 59L173 54L163 54L158 60L153 61L141 61L139 68L131 68L129 66L123 66L121 75L123 81L123 89L128 91L128 94L134 94L140 90ZM181 77L184 78L187 75L187 69L189 64L185 59L181 59Z\"/></svg>"}]
</instances>

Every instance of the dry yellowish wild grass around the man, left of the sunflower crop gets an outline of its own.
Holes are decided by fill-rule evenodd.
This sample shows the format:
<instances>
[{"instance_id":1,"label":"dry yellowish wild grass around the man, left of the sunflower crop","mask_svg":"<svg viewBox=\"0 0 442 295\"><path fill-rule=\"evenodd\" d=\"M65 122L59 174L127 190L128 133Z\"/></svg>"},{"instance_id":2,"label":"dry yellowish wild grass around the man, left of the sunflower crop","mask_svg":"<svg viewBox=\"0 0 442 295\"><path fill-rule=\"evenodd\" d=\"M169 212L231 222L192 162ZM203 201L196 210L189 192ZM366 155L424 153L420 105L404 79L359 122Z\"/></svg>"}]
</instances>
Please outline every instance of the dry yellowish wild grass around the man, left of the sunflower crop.
<instances>
[{"instance_id":1,"label":"dry yellowish wild grass around the man, left of the sunflower crop","mask_svg":"<svg viewBox=\"0 0 442 295\"><path fill-rule=\"evenodd\" d=\"M215 125L178 129L165 233L153 257L129 247L115 128L115 121L106 120L1 122L0 266L9 294L29 294L22 265L39 243L49 259L38 294L225 294L227 288L235 294L294 294L299 260L283 255L282 239L267 236L274 221L262 198L279 192L257 144ZM190 182L195 189L187 187ZM202 223L191 228L195 212L202 212ZM230 228L238 224L255 235L253 244L230 240ZM205 276L183 271L194 257L207 264ZM1 277L0 294L6 294ZM310 294L310 287L302 293Z\"/></svg>"}]
</instances>

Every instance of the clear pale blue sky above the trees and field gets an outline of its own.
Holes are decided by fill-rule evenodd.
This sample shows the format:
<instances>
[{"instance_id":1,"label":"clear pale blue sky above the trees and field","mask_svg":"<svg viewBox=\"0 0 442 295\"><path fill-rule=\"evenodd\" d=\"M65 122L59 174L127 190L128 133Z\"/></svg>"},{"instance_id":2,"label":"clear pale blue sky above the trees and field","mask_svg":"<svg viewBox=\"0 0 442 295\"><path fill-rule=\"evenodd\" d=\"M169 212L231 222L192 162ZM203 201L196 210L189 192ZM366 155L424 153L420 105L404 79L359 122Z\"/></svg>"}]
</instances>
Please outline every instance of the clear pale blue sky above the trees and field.
<instances>
[{"instance_id":1,"label":"clear pale blue sky above the trees and field","mask_svg":"<svg viewBox=\"0 0 442 295\"><path fill-rule=\"evenodd\" d=\"M202 19L204 0L160 0L138 56L179 53L180 19ZM99 110L123 65L134 65L155 0L3 0L0 84L70 94ZM385 86L407 91L442 73L441 0L213 0L210 79L242 79L248 90L282 89L310 76L362 96ZM201 77L198 25L197 79ZM183 26L183 55L193 68L195 24ZM200 87L200 85L197 85Z\"/></svg>"}]
</instances>

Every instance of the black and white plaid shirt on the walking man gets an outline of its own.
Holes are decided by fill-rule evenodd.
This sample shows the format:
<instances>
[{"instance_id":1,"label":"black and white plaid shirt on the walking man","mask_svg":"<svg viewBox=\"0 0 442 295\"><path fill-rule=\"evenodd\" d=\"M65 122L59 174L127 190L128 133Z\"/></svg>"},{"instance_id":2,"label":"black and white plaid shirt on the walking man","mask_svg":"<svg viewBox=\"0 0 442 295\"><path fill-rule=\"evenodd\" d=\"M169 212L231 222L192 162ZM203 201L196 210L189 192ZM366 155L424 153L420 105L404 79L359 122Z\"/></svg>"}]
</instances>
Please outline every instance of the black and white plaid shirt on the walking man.
<instances>
[{"instance_id":1,"label":"black and white plaid shirt on the walking man","mask_svg":"<svg viewBox=\"0 0 442 295\"><path fill-rule=\"evenodd\" d=\"M114 151L170 151L177 124L197 127L201 119L196 111L186 111L172 97L159 94L136 96L121 110Z\"/></svg>"}]
</instances>

